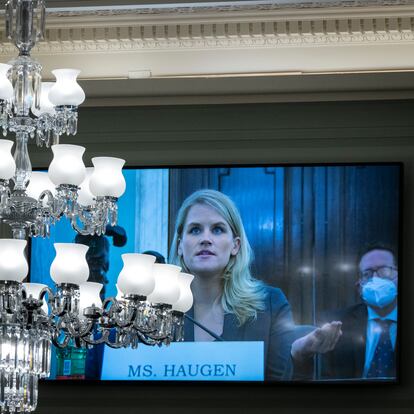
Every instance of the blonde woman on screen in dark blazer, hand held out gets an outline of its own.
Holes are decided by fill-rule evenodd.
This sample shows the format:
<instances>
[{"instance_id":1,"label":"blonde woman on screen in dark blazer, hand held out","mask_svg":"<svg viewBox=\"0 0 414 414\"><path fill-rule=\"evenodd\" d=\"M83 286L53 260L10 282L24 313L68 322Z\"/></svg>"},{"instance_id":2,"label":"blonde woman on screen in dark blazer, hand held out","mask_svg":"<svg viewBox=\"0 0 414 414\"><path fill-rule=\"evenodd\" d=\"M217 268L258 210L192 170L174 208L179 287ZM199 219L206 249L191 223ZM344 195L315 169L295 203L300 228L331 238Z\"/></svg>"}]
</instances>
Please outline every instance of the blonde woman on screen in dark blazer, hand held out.
<instances>
[{"instance_id":1,"label":"blonde woman on screen in dark blazer, hand held out","mask_svg":"<svg viewBox=\"0 0 414 414\"><path fill-rule=\"evenodd\" d=\"M278 288L250 273L252 250L233 201L215 190L199 190L182 204L170 262L195 276L192 316L227 341L263 341L266 379L290 379L292 355L301 359L335 342L336 327L295 341L289 303ZM340 330L340 327L339 327ZM186 340L214 338L196 325Z\"/></svg>"}]
</instances>

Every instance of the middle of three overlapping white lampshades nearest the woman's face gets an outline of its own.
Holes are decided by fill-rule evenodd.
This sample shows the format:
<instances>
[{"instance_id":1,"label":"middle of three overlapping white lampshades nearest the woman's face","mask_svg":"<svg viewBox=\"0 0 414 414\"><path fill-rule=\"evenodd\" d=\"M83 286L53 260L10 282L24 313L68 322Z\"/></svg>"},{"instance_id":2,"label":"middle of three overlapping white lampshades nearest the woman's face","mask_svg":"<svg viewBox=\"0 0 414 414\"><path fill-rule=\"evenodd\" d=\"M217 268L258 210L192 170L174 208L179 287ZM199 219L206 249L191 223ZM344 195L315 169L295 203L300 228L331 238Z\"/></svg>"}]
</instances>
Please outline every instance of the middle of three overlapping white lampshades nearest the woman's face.
<instances>
[{"instance_id":1,"label":"middle of three overlapping white lampshades nearest the woman's face","mask_svg":"<svg viewBox=\"0 0 414 414\"><path fill-rule=\"evenodd\" d=\"M173 305L180 296L178 274L181 267L169 264L154 264L155 288L148 301Z\"/></svg>"}]
</instances>

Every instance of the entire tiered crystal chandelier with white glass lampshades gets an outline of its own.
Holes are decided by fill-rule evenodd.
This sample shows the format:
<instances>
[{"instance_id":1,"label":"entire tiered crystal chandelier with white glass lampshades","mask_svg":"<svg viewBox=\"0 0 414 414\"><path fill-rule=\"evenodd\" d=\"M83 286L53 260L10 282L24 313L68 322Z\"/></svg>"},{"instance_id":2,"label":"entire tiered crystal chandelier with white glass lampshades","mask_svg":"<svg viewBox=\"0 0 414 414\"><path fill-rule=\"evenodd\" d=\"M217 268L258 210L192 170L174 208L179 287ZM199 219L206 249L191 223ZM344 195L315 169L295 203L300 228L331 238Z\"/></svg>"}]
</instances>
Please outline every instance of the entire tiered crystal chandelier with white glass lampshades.
<instances>
[{"instance_id":1,"label":"entire tiered crystal chandelier with white glass lampshades","mask_svg":"<svg viewBox=\"0 0 414 414\"><path fill-rule=\"evenodd\" d=\"M0 239L0 409L31 412L38 380L50 374L51 346L89 348L107 344L136 348L183 340L184 313L192 306L192 275L155 264L155 257L122 256L116 298L100 298L102 285L88 282L88 246L55 243L50 274L55 283L22 283L28 274L27 237L47 237L61 217L80 234L102 235L117 222L117 200L125 191L124 160L92 158L85 148L59 143L76 134L77 107L85 95L76 83L79 71L52 71L55 83L41 81L41 65L30 50L43 37L43 0L9 0L6 32L19 50L0 64L0 126L13 141L0 140L0 220L13 239ZM32 172L28 140L51 146L48 173Z\"/></svg>"}]
</instances>

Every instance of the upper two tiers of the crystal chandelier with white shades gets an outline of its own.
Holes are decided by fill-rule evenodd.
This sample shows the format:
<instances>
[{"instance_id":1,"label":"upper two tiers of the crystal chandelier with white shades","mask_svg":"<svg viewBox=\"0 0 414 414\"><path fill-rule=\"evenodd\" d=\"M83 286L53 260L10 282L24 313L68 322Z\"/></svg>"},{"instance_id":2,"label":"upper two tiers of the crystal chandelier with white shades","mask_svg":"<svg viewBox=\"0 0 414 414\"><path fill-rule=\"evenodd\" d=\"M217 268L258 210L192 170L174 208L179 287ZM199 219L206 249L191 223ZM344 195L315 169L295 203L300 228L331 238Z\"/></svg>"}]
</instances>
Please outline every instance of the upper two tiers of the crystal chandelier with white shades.
<instances>
[{"instance_id":1,"label":"upper two tiers of the crystal chandelier with white shades","mask_svg":"<svg viewBox=\"0 0 414 414\"><path fill-rule=\"evenodd\" d=\"M117 200L125 190L121 172L125 161L94 158L95 171L86 177L85 149L59 144L62 134L76 134L77 108L85 93L76 81L76 69L53 70L56 82L42 82L42 66L30 51L44 32L43 0L8 0L6 34L19 55L0 64L0 127L5 136L15 133L16 145L13 157L13 143L0 140L0 220L11 226L18 239L49 236L50 226L62 216L80 234L101 235L107 224L117 221ZM54 185L32 173L27 147L31 138L38 146L52 148L49 178ZM41 184L44 187L33 197L29 187ZM82 191L91 191L89 204L78 202Z\"/></svg>"}]
</instances>

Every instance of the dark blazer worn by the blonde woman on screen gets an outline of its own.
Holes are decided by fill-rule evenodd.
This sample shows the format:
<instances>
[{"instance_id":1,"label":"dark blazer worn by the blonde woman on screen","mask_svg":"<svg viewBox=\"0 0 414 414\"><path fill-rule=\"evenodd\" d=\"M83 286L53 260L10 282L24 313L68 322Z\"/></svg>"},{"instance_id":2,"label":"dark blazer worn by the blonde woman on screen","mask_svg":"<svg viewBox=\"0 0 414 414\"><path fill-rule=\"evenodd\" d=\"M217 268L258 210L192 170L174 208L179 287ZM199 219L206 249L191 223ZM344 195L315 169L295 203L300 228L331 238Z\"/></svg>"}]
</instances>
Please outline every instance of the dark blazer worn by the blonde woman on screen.
<instances>
[{"instance_id":1,"label":"dark blazer worn by the blonde woman on screen","mask_svg":"<svg viewBox=\"0 0 414 414\"><path fill-rule=\"evenodd\" d=\"M266 380L288 380L293 366L290 355L294 340L294 323L289 303L280 289L266 286L265 310L257 319L238 326L234 314L224 315L225 341L263 341ZM193 317L193 309L188 312ZM185 341L194 341L194 325L185 320Z\"/></svg>"}]
</instances>

